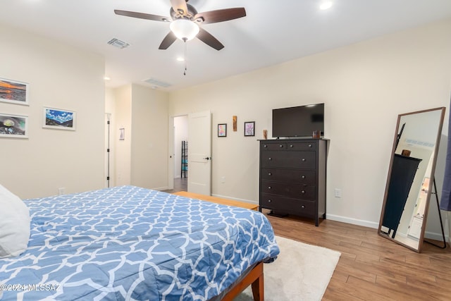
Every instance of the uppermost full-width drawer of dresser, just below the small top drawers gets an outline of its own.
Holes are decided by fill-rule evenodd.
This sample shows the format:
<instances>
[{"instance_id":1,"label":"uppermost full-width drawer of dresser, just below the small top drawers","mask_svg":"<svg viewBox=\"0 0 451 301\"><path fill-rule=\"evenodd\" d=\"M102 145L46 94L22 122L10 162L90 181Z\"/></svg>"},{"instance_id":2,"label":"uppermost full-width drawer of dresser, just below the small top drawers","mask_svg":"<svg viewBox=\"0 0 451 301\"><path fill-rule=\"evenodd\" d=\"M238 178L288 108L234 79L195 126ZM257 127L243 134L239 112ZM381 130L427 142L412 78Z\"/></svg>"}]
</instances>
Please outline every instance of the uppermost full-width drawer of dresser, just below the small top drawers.
<instances>
[{"instance_id":1,"label":"uppermost full-width drawer of dresser, just below the small top drawers","mask_svg":"<svg viewBox=\"0 0 451 301\"><path fill-rule=\"evenodd\" d=\"M261 152L261 167L314 169L315 152Z\"/></svg>"}]
</instances>

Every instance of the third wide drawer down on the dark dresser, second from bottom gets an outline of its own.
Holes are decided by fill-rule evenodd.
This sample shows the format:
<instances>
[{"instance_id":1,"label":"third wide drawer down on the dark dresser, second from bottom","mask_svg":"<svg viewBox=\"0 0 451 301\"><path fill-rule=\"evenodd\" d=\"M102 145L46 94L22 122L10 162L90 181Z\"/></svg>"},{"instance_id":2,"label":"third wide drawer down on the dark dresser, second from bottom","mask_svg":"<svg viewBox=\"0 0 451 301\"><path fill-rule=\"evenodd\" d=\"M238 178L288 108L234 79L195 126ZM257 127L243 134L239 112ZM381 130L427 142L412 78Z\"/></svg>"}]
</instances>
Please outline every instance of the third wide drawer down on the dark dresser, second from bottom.
<instances>
[{"instance_id":1,"label":"third wide drawer down on the dark dresser, second from bottom","mask_svg":"<svg viewBox=\"0 0 451 301\"><path fill-rule=\"evenodd\" d=\"M316 186L294 183L261 181L261 192L271 195L283 195L293 199L316 199Z\"/></svg>"}]
</instances>

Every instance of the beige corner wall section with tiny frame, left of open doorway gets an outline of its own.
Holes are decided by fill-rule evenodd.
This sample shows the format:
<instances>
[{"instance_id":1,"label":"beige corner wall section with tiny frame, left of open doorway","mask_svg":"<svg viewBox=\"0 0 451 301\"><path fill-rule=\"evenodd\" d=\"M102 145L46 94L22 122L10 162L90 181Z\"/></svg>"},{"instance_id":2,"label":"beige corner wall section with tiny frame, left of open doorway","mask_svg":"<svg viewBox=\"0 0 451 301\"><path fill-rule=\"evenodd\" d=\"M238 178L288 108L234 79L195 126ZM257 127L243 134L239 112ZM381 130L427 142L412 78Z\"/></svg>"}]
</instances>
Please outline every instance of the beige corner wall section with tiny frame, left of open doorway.
<instances>
[{"instance_id":1,"label":"beige corner wall section with tiny frame, left of open doorway","mask_svg":"<svg viewBox=\"0 0 451 301\"><path fill-rule=\"evenodd\" d=\"M109 89L114 185L168 188L168 94L140 85ZM119 129L125 138L119 140Z\"/></svg>"}]
</instances>

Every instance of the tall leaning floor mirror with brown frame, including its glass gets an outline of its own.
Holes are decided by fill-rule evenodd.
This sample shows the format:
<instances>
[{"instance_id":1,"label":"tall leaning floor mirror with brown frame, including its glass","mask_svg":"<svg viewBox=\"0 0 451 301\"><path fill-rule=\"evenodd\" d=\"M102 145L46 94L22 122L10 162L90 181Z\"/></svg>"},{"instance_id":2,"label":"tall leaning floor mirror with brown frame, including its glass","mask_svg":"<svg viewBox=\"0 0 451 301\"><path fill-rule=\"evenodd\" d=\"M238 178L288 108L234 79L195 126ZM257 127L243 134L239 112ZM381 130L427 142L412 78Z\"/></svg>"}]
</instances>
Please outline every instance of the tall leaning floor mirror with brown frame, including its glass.
<instances>
[{"instance_id":1,"label":"tall leaning floor mirror with brown frame, including its glass","mask_svg":"<svg viewBox=\"0 0 451 301\"><path fill-rule=\"evenodd\" d=\"M400 114L379 235L421 251L445 108Z\"/></svg>"}]
</instances>

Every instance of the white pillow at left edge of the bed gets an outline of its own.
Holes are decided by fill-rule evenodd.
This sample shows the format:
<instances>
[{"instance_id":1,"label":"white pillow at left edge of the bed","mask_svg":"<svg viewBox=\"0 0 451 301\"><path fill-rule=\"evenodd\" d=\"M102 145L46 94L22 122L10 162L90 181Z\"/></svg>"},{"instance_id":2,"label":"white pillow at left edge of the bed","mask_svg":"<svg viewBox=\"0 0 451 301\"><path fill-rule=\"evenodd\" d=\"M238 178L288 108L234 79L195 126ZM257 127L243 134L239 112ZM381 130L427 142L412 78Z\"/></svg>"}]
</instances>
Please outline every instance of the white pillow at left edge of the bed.
<instances>
[{"instance_id":1,"label":"white pillow at left edge of the bed","mask_svg":"<svg viewBox=\"0 0 451 301\"><path fill-rule=\"evenodd\" d=\"M0 185L0 258L16 257L27 250L30 221L27 205Z\"/></svg>"}]
</instances>

